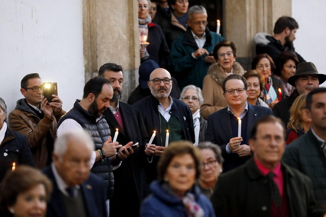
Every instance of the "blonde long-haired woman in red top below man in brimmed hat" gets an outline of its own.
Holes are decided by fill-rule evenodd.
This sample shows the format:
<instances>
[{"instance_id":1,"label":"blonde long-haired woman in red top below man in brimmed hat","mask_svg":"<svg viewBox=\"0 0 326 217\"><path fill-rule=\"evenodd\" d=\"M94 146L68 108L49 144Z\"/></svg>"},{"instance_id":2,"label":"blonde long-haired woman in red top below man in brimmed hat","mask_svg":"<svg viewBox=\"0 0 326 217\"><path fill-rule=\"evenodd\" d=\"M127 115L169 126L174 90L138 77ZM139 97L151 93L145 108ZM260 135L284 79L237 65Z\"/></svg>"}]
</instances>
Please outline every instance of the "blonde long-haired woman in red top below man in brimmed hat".
<instances>
[{"instance_id":1,"label":"blonde long-haired woman in red top below man in brimmed hat","mask_svg":"<svg viewBox=\"0 0 326 217\"><path fill-rule=\"evenodd\" d=\"M287 144L290 144L307 132L312 125L312 120L306 113L306 96L307 93L298 96L290 108L290 120L287 126L288 130L286 131Z\"/></svg>"}]
</instances>

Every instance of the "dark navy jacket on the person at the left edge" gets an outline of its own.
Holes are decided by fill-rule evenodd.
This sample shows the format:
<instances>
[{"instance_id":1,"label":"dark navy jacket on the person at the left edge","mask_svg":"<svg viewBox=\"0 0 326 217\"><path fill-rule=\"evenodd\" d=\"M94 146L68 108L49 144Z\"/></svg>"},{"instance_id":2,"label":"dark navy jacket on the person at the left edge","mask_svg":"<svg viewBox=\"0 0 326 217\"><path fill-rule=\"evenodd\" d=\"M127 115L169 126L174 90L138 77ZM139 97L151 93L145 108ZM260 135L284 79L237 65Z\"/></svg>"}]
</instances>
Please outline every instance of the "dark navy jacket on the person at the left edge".
<instances>
[{"instance_id":1,"label":"dark navy jacket on the person at the left edge","mask_svg":"<svg viewBox=\"0 0 326 217\"><path fill-rule=\"evenodd\" d=\"M20 164L35 167L26 137L7 127L5 138L0 144L0 183L7 170L12 169L13 163L16 167Z\"/></svg>"}]
</instances>

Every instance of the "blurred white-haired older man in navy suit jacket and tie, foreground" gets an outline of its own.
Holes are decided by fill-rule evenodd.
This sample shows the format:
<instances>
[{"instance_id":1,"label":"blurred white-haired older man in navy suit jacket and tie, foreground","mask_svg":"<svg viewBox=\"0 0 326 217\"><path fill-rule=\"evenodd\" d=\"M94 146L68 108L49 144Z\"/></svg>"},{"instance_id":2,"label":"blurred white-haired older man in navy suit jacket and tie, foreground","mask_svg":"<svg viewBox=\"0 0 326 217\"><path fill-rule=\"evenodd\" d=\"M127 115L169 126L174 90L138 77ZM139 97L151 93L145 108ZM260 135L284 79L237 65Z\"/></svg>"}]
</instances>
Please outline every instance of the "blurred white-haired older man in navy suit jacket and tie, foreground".
<instances>
[{"instance_id":1,"label":"blurred white-haired older man in navy suit jacket and tie, foreground","mask_svg":"<svg viewBox=\"0 0 326 217\"><path fill-rule=\"evenodd\" d=\"M53 163L43 171L53 184L47 217L107 216L104 182L90 174L93 150L93 140L82 130L57 138Z\"/></svg>"}]
</instances>

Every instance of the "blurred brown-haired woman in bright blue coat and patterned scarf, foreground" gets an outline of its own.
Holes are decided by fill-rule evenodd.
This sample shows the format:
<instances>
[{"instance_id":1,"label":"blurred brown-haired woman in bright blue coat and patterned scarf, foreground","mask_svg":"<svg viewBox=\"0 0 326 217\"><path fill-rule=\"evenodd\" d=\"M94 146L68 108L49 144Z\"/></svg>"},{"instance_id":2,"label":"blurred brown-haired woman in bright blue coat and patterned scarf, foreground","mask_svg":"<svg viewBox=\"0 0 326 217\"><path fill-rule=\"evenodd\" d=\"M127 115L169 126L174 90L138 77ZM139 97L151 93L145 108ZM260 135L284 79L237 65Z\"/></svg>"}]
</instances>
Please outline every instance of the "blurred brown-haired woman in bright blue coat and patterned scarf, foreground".
<instances>
[{"instance_id":1,"label":"blurred brown-haired woman in bright blue coat and patterned scarf, foreground","mask_svg":"<svg viewBox=\"0 0 326 217\"><path fill-rule=\"evenodd\" d=\"M212 203L200 193L199 150L190 142L172 142L160 157L158 180L150 185L152 194L141 204L141 217L215 217Z\"/></svg>"}]
</instances>

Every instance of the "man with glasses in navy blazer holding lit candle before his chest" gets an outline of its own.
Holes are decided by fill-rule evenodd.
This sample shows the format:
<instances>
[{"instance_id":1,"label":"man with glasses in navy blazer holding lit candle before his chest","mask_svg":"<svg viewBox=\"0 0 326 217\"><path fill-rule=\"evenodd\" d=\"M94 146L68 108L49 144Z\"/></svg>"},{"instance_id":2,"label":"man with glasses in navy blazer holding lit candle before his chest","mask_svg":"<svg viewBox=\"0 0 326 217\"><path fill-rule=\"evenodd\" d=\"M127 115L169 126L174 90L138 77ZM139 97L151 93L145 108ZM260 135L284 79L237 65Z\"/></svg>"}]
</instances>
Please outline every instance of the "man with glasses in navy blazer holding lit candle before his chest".
<instances>
[{"instance_id":1,"label":"man with glasses in navy blazer holding lit candle before his chest","mask_svg":"<svg viewBox=\"0 0 326 217\"><path fill-rule=\"evenodd\" d=\"M222 89L228 107L208 115L205 140L220 145L225 159L223 168L228 171L251 157L248 145L251 130L259 118L273 112L270 108L247 103L248 84L243 76L229 75Z\"/></svg>"}]
</instances>

